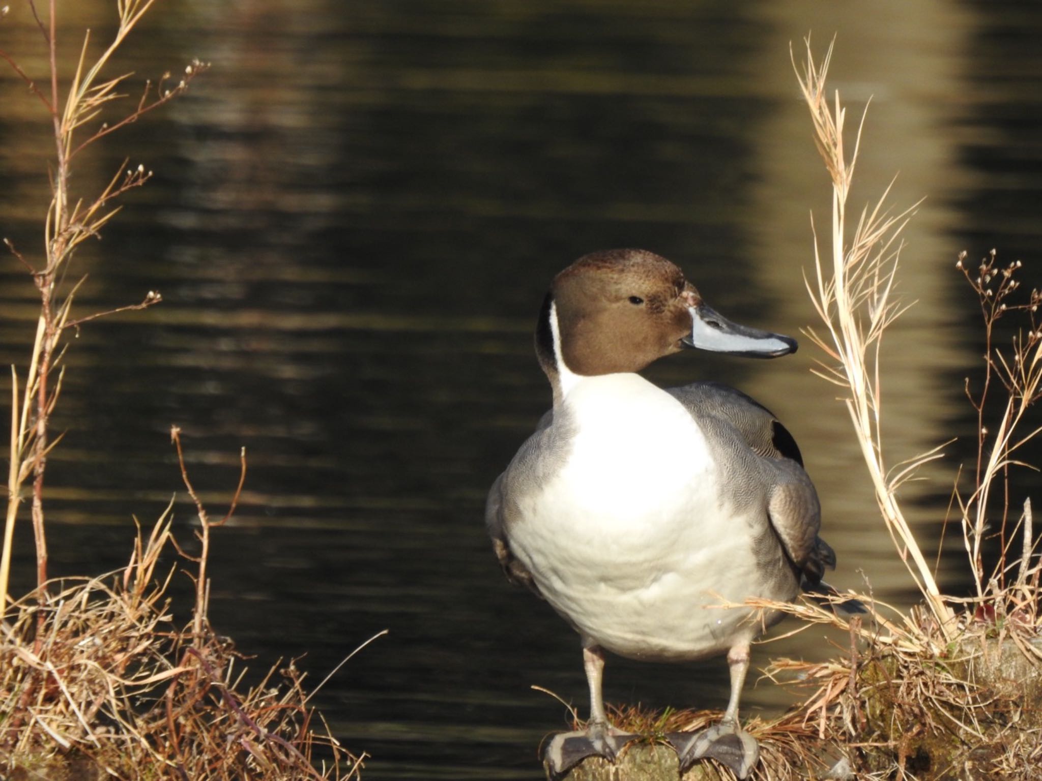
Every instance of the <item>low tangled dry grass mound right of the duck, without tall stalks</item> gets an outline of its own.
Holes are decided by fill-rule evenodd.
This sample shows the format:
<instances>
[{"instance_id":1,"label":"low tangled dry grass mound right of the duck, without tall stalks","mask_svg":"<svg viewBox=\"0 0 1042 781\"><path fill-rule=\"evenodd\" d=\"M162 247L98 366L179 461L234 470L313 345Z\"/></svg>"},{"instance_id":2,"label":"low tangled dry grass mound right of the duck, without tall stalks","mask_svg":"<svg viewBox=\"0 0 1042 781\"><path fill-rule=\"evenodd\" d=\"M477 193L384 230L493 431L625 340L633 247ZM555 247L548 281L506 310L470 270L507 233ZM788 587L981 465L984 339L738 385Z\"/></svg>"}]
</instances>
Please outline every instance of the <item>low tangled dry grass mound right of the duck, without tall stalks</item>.
<instances>
[{"instance_id":1,"label":"low tangled dry grass mound right of the duck, without tall stalks","mask_svg":"<svg viewBox=\"0 0 1042 781\"><path fill-rule=\"evenodd\" d=\"M924 610L876 604L847 623L792 605L804 620L845 626L849 648L827 662L775 660L766 673L804 691L792 714L845 751L858 778L1035 778L1042 623L994 607L963 613L949 640Z\"/></svg>"}]
</instances>

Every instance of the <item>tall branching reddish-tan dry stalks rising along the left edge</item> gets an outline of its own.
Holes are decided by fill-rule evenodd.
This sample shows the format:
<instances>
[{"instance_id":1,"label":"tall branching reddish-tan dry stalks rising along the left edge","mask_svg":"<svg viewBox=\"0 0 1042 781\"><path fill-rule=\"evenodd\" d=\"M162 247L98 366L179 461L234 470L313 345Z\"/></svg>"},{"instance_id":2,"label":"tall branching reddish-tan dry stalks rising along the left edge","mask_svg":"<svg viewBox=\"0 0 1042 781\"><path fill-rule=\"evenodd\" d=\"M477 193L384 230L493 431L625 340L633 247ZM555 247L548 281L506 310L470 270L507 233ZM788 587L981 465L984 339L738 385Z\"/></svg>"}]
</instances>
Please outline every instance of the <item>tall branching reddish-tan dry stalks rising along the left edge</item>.
<instances>
[{"instance_id":1,"label":"tall branching reddish-tan dry stalks rising along the left edge","mask_svg":"<svg viewBox=\"0 0 1042 781\"><path fill-rule=\"evenodd\" d=\"M52 374L58 370L63 347L61 339L70 328L128 309L144 309L158 303L157 293L149 292L138 304L97 312L88 317L72 319L74 297L82 279L63 289L61 281L76 249L88 238L100 236L100 230L116 216L119 207L114 200L127 191L145 184L152 173L144 166L127 169L126 162L120 167L107 186L85 197L74 195L70 186L72 165L77 155L100 138L125 125L135 122L145 114L173 100L188 90L189 83L203 72L207 66L195 61L188 66L183 76L172 82L165 75L153 86L149 81L141 92L137 106L113 122L103 122L93 131L86 126L95 123L105 112L109 104L124 97L119 89L130 74L105 78L102 71L134 29L142 17L152 7L155 0L117 0L118 25L111 42L93 61L88 59L90 31L83 36L79 59L70 86L64 98L58 90L58 39L57 2L48 0L47 24L41 19L34 0L28 0L40 32L43 35L49 61L49 95L35 83L15 57L0 50L0 57L29 86L31 94L44 106L51 120L54 135L55 160L51 172L51 202L44 220L45 257L41 261L26 258L9 241L6 244L11 255L26 269L40 293L40 319L36 324L32 353L25 373L25 383L19 392L18 373L11 368L11 429L9 448L9 469L7 474L7 510L4 521L3 548L0 550L0 616L8 603L8 582L10 577L10 554L18 520L18 511L26 498L24 485L32 478L31 518L36 552L36 586L44 595L47 582L47 536L44 519L44 477L47 455L57 444L50 442L48 423L61 389L61 374L56 380ZM7 12L4 7L4 14ZM171 82L168 85L168 80ZM46 87L45 87L46 89Z\"/></svg>"}]
</instances>

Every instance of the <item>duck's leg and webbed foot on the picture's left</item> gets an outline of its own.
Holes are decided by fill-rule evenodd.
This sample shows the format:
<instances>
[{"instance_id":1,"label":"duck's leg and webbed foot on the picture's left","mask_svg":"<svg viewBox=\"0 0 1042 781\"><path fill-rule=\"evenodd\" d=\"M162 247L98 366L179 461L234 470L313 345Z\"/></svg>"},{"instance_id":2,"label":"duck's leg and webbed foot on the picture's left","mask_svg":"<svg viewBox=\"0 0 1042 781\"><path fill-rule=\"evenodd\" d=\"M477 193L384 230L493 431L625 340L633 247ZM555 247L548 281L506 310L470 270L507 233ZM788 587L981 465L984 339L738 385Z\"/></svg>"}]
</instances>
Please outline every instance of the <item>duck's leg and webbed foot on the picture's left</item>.
<instances>
[{"instance_id":1,"label":"duck's leg and webbed foot on the picture's left","mask_svg":"<svg viewBox=\"0 0 1042 781\"><path fill-rule=\"evenodd\" d=\"M639 737L607 721L601 682L604 678L604 651L593 640L582 639L582 666L590 686L590 721L585 730L554 735L546 747L545 761L554 776L562 776L591 756L614 762L627 742Z\"/></svg>"}]
</instances>

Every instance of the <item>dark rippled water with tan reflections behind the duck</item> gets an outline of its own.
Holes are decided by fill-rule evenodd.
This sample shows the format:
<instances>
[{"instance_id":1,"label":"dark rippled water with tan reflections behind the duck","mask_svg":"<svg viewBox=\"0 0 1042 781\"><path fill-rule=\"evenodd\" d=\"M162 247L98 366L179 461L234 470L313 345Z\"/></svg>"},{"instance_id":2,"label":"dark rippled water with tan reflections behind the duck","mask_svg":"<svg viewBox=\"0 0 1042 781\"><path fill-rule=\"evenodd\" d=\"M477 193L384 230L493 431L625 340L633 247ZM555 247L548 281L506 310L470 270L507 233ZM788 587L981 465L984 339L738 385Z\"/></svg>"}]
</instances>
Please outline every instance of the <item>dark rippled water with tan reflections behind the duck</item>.
<instances>
[{"instance_id":1,"label":"dark rippled water with tan reflections behind the duck","mask_svg":"<svg viewBox=\"0 0 1042 781\"><path fill-rule=\"evenodd\" d=\"M83 25L110 33L106 7L63 11L69 56ZM0 47L40 77L30 23L14 7ZM257 667L306 653L318 680L388 628L317 698L373 755L366 777L538 778L537 746L564 709L529 686L585 708L578 648L503 582L481 525L488 485L549 403L538 304L574 257L640 246L736 319L813 323L800 270L826 179L788 50L811 29L819 51L838 32L833 86L851 112L874 96L854 201L897 171L898 205L928 196L903 254L901 292L919 303L885 355L889 460L971 433L962 377L978 331L952 264L996 247L1042 283L1042 6L169 2L117 70L144 78L199 57L213 71L76 171L84 194L124 157L156 172L77 259L90 273L77 311L149 289L165 303L83 328L69 352L55 419L68 433L48 473L53 574L124 562L131 514L154 519L180 488L170 424L215 512L245 446L243 502L215 541L218 629ZM52 146L39 105L3 78L0 223L36 257ZM17 263L0 266L5 362L27 359L32 298ZM652 376L723 379L772 407L822 495L837 585L863 573L877 595L911 599L814 357L810 345L769 363L684 355ZM967 447L905 489L924 539ZM179 538L193 517L179 496ZM28 587L28 526L19 534ZM962 588L949 553L942 581ZM755 662L826 651L804 633ZM619 661L606 694L720 706L724 678L719 661ZM750 685L746 711L788 698Z\"/></svg>"}]
</instances>

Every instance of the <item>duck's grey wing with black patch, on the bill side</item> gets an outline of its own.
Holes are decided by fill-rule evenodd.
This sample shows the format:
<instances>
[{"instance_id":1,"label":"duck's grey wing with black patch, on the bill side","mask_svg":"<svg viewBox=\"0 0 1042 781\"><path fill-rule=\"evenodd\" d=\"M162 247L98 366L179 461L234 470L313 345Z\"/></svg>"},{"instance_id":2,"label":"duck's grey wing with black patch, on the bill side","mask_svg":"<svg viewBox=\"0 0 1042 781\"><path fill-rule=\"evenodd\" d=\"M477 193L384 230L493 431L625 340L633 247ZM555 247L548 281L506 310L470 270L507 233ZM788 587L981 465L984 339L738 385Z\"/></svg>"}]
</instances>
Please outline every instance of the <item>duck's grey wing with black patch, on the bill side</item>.
<instances>
[{"instance_id":1,"label":"duck's grey wing with black patch, on the bill side","mask_svg":"<svg viewBox=\"0 0 1042 781\"><path fill-rule=\"evenodd\" d=\"M668 392L692 417L722 422L749 450L768 459L772 477L766 499L771 526L796 570L809 583L820 582L825 568L835 569L836 553L818 536L818 494L789 430L767 407L729 385L695 382Z\"/></svg>"}]
</instances>

